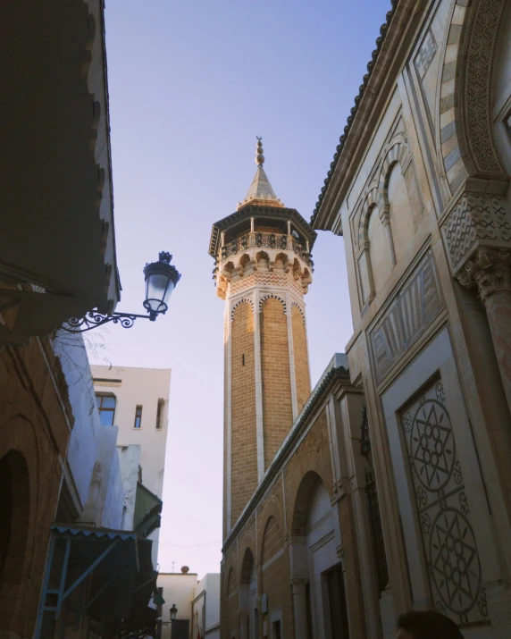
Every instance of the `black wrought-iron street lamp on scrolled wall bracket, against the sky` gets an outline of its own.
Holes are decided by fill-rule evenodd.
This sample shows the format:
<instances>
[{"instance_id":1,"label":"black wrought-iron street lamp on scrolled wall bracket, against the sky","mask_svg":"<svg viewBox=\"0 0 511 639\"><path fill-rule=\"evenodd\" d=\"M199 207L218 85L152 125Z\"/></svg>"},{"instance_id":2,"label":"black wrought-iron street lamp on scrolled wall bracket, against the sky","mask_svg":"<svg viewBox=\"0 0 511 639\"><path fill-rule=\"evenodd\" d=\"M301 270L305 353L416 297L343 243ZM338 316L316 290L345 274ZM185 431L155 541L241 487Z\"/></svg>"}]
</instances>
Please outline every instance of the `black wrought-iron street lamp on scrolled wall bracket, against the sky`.
<instances>
[{"instance_id":1,"label":"black wrought-iron street lamp on scrolled wall bracket, against the sky","mask_svg":"<svg viewBox=\"0 0 511 639\"><path fill-rule=\"evenodd\" d=\"M146 279L144 308L147 310L147 315L137 315L135 313L103 315L97 310L92 310L88 311L83 317L71 317L63 324L63 330L67 332L86 332L108 322L121 324L123 328L131 328L138 317L155 322L158 315L165 315L169 307L168 302L172 290L175 289L181 276L176 267L171 264L172 255L170 253L162 251L159 257L157 262L152 262L144 267ZM177 608L175 610L177 611Z\"/></svg>"}]
</instances>

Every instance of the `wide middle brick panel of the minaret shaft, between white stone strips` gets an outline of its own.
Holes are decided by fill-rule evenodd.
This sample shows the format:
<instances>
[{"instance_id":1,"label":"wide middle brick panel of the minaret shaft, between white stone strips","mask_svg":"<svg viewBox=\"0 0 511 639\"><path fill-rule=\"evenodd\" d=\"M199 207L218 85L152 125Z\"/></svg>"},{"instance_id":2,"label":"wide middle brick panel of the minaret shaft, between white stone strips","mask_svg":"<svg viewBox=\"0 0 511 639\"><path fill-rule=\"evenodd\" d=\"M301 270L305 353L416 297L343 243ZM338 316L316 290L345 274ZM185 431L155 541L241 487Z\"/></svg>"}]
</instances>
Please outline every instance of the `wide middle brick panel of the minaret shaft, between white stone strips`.
<instances>
[{"instance_id":1,"label":"wide middle brick panel of the minaret shaft, between white stone strips","mask_svg":"<svg viewBox=\"0 0 511 639\"><path fill-rule=\"evenodd\" d=\"M293 424L293 409L284 308L278 299L266 299L260 316L264 468L267 468Z\"/></svg>"}]
</instances>

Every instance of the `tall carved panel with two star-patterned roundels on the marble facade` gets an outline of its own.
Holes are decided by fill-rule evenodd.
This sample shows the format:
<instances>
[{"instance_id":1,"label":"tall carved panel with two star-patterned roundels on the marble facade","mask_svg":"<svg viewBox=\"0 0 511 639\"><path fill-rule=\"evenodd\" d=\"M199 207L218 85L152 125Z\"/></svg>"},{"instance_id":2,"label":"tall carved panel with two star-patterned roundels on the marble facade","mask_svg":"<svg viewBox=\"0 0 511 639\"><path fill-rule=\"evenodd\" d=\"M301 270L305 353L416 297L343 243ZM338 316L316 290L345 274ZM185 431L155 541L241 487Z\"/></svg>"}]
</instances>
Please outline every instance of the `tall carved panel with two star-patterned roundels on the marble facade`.
<instances>
[{"instance_id":1,"label":"tall carved panel with two star-patterned roundels on the marble facade","mask_svg":"<svg viewBox=\"0 0 511 639\"><path fill-rule=\"evenodd\" d=\"M435 610L457 624L488 616L455 436L437 379L401 411L415 508Z\"/></svg>"}]
</instances>

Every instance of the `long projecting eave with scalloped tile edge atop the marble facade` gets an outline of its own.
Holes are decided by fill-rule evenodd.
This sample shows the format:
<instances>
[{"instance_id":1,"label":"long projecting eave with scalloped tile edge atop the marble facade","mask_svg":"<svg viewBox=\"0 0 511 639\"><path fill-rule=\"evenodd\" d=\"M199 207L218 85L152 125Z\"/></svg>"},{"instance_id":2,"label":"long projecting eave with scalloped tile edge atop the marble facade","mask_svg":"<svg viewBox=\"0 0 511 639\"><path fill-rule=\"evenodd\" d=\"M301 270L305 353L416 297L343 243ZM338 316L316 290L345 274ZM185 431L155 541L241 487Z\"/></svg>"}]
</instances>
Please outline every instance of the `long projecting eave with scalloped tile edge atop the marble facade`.
<instances>
[{"instance_id":1,"label":"long projecting eave with scalloped tile edge atop the marble facade","mask_svg":"<svg viewBox=\"0 0 511 639\"><path fill-rule=\"evenodd\" d=\"M340 203L353 180L358 164L383 107L396 83L410 41L429 0L392 0L387 21L381 26L373 59L367 65L355 106L351 109L344 134L333 156L311 223L314 229L331 231Z\"/></svg>"}]
</instances>

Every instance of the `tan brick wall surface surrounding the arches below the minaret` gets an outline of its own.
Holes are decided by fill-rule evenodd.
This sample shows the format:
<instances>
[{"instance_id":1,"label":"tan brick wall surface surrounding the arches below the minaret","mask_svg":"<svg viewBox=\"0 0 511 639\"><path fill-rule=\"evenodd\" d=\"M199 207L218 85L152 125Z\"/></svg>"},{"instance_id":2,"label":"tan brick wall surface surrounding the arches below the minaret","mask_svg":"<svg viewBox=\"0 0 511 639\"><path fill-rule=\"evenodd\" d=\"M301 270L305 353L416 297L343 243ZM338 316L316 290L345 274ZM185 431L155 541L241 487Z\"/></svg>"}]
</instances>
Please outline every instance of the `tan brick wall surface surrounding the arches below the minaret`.
<instances>
[{"instance_id":1,"label":"tan brick wall surface surrounding the arches below the minaret","mask_svg":"<svg viewBox=\"0 0 511 639\"><path fill-rule=\"evenodd\" d=\"M255 505L247 523L239 530L236 538L229 540L229 546L223 556L225 572L222 584L224 584L224 592L227 592L229 588L231 594L222 601L222 639L231 639L232 632L237 639L240 636L239 588L243 580L247 582L247 574L244 576L243 571L243 559L247 557L247 549L250 549L254 556L257 574L261 624L258 636L262 636L264 620L269 623L270 618L269 614L264 615L261 611L261 595L264 593L268 596L269 612L279 608L282 611L282 637L292 639L296 636L288 543L295 535L303 538L307 534L311 500L319 481L323 481L327 491L333 497L333 475L325 408L319 412L297 450L287 460L281 473L275 476L264 496ZM367 632L364 626L360 564L350 494L345 494L337 503L334 503L332 514L339 520L342 539L350 637L364 639ZM234 579L234 583L231 582L227 586L229 574L231 579Z\"/></svg>"}]
</instances>

